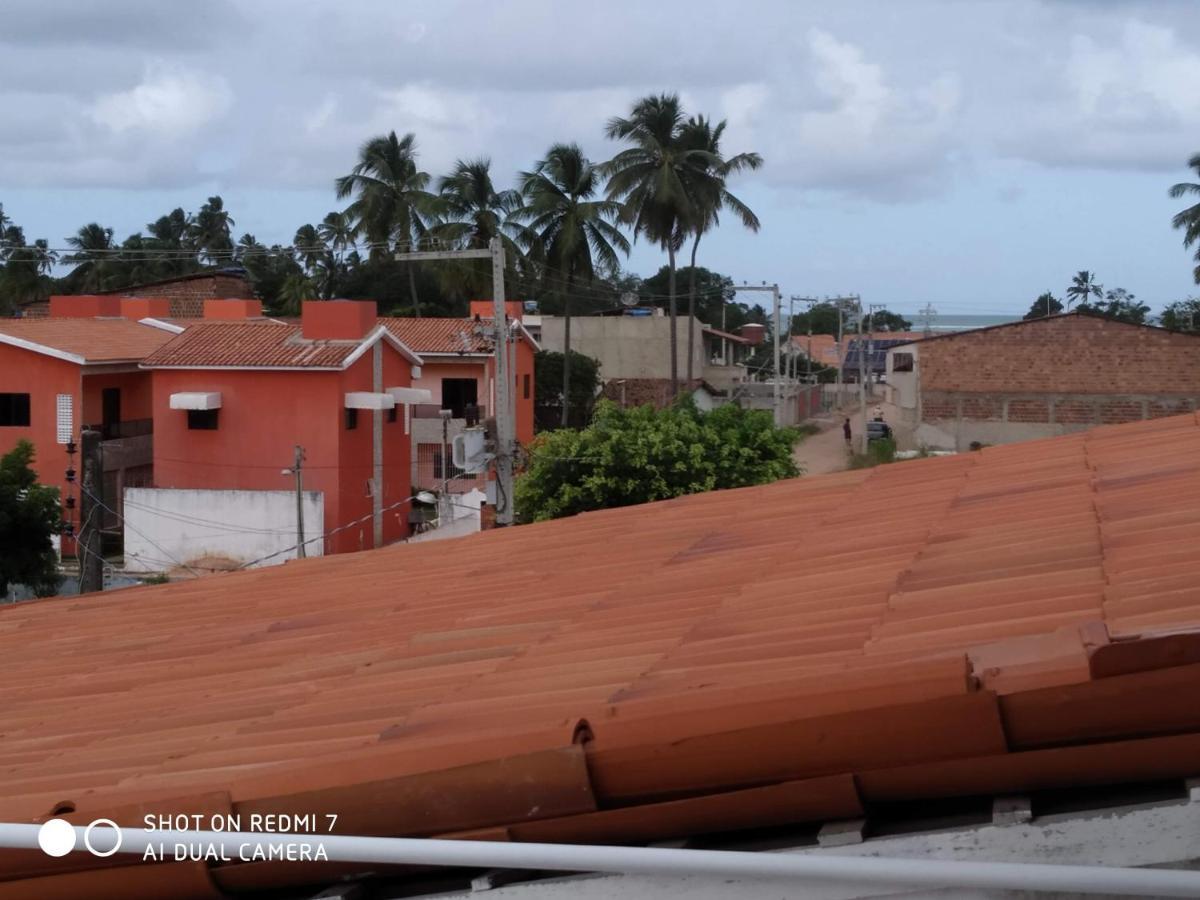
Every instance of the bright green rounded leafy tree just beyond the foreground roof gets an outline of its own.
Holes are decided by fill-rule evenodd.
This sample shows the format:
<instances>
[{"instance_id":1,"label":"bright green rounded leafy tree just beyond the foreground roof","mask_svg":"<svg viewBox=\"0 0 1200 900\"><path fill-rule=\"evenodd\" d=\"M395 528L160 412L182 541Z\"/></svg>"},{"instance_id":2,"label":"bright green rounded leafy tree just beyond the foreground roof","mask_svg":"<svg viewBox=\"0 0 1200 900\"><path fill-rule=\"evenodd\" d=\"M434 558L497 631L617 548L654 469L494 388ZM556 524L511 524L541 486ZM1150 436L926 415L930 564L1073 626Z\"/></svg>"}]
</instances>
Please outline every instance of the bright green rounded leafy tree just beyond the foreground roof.
<instances>
[{"instance_id":1,"label":"bright green rounded leafy tree just beyond the foreground roof","mask_svg":"<svg viewBox=\"0 0 1200 900\"><path fill-rule=\"evenodd\" d=\"M661 410L600 401L587 428L534 439L516 484L517 514L542 521L792 478L797 437L770 413L733 403L701 413L690 396Z\"/></svg>"}]
</instances>

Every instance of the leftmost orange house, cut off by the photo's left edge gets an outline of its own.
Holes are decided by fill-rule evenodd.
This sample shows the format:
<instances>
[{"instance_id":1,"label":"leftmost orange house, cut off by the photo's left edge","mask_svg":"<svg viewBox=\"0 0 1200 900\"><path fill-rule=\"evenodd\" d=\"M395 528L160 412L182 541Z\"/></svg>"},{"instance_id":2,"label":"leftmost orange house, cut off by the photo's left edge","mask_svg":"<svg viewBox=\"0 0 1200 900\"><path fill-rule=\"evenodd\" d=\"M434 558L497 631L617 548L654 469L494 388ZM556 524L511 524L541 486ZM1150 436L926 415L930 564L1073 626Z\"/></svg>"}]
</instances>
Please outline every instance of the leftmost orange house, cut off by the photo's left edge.
<instances>
[{"instance_id":1,"label":"leftmost orange house, cut off by the photo's left edge","mask_svg":"<svg viewBox=\"0 0 1200 900\"><path fill-rule=\"evenodd\" d=\"M118 528L124 488L150 484L150 376L138 364L172 334L140 320L167 312L166 300L53 296L48 318L0 319L0 455L31 442L38 480L60 490L74 527L66 472L82 467L67 450L84 428L101 432L106 528Z\"/></svg>"}]
</instances>

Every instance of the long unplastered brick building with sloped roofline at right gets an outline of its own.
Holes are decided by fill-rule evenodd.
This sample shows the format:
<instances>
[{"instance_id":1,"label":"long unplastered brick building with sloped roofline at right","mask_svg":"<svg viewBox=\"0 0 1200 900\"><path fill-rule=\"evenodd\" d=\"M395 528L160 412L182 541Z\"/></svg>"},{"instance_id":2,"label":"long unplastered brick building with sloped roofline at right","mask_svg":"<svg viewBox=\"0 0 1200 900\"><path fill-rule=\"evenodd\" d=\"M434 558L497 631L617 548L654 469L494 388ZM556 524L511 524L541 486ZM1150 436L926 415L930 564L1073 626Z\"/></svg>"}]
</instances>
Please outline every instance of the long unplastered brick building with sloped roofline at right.
<instances>
[{"instance_id":1,"label":"long unplastered brick building with sloped roofline at right","mask_svg":"<svg viewBox=\"0 0 1200 900\"><path fill-rule=\"evenodd\" d=\"M916 443L966 450L1194 410L1200 337L1067 313L892 347L887 382Z\"/></svg>"}]
</instances>

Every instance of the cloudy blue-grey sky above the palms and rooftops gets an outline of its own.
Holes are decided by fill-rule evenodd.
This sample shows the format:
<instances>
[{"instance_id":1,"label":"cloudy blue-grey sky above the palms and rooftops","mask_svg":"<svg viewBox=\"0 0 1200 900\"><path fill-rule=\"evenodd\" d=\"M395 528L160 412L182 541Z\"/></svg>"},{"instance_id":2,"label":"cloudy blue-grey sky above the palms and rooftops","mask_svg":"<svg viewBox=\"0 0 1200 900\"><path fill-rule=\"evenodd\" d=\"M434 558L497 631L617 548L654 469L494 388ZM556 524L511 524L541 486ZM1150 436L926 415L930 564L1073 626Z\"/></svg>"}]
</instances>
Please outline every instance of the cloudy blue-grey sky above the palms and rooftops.
<instances>
[{"instance_id":1,"label":"cloudy blue-grey sky above the palms and rooftops","mask_svg":"<svg viewBox=\"0 0 1200 900\"><path fill-rule=\"evenodd\" d=\"M762 232L701 245L734 278L947 313L1024 312L1079 269L1156 310L1200 293L1166 197L1198 180L1190 0L42 0L0 25L0 203L61 246L220 193L236 234L288 242L370 136L504 180L556 140L607 158L652 91L766 158L736 186Z\"/></svg>"}]
</instances>

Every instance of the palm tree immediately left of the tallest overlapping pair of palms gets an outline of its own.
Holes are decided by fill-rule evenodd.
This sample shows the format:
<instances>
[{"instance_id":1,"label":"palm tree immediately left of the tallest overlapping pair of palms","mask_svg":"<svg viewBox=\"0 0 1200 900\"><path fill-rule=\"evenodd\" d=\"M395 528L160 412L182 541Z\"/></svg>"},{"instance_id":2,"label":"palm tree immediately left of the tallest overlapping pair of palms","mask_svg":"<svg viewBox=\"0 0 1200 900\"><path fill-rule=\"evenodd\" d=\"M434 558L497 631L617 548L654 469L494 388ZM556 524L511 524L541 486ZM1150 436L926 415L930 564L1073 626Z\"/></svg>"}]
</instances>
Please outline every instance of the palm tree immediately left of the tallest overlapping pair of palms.
<instances>
[{"instance_id":1,"label":"palm tree immediately left of the tallest overlapping pair of palms","mask_svg":"<svg viewBox=\"0 0 1200 900\"><path fill-rule=\"evenodd\" d=\"M533 172L521 173L526 205L512 214L527 223L522 234L526 250L544 262L553 283L563 286L563 427L568 424L571 386L571 287L576 280L592 282L596 263L619 269L617 251L629 256L629 239L613 224L620 204L593 199L600 173L578 144L554 144Z\"/></svg>"}]
</instances>

